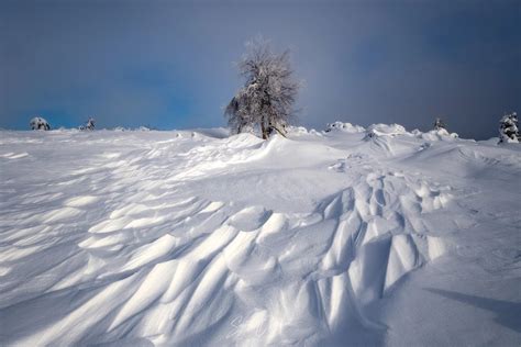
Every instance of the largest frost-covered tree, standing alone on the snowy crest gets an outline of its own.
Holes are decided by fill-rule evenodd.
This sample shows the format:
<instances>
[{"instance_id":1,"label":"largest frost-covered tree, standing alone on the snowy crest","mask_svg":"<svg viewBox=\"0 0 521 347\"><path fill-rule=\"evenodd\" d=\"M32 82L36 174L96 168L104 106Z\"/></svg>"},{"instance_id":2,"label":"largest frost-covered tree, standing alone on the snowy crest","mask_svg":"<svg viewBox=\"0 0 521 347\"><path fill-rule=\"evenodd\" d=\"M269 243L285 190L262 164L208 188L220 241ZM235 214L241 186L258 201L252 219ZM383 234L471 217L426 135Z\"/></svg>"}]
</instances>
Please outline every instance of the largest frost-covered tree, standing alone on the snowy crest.
<instances>
[{"instance_id":1,"label":"largest frost-covered tree, standing alone on the snowy crest","mask_svg":"<svg viewBox=\"0 0 521 347\"><path fill-rule=\"evenodd\" d=\"M239 70L244 87L224 112L232 132L259 132L263 138L273 132L285 135L300 87L293 79L289 51L274 53L267 41L256 38L246 44Z\"/></svg>"}]
</instances>

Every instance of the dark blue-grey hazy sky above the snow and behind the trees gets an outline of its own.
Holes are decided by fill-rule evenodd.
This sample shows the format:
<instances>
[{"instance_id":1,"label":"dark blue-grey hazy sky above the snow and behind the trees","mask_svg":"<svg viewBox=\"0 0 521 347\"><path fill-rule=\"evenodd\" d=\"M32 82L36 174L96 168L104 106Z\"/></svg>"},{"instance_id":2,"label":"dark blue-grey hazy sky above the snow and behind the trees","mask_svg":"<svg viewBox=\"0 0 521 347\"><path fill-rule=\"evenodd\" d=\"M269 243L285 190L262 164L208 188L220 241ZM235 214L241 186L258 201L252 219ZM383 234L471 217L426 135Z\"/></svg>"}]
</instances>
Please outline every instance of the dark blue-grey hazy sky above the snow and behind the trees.
<instances>
[{"instance_id":1,"label":"dark blue-grey hazy sky above the snow and behind the trees","mask_svg":"<svg viewBox=\"0 0 521 347\"><path fill-rule=\"evenodd\" d=\"M496 136L521 111L519 1L0 2L0 127L222 126L233 61L263 35L304 81L297 124Z\"/></svg>"}]
</instances>

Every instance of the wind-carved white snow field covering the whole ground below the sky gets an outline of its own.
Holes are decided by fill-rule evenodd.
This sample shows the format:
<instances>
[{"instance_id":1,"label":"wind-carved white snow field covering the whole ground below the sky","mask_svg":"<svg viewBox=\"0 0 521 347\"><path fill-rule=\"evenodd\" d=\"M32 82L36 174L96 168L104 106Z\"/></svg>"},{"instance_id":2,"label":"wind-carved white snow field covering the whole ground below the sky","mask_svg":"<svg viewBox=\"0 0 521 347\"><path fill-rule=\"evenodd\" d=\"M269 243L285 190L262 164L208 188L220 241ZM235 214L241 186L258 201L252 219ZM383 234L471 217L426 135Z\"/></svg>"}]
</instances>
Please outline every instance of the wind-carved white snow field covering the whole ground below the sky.
<instances>
[{"instance_id":1,"label":"wind-carved white snow field covering the whole ground below the sky","mask_svg":"<svg viewBox=\"0 0 521 347\"><path fill-rule=\"evenodd\" d=\"M1 131L0 345L519 346L521 146L347 128Z\"/></svg>"}]
</instances>

